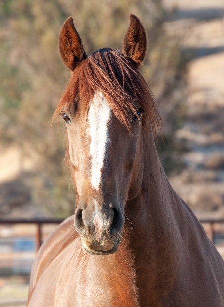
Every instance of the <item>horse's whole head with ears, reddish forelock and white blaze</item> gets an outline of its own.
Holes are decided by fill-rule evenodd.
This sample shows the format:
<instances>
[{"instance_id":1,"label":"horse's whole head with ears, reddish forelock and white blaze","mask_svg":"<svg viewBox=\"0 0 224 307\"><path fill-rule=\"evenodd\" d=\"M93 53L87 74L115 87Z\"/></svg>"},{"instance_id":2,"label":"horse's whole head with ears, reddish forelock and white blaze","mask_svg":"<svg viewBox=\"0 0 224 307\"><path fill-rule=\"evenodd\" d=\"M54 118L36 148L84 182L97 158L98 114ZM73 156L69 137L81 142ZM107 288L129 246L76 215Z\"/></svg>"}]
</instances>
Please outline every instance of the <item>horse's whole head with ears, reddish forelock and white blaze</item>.
<instances>
[{"instance_id":1,"label":"horse's whole head with ears, reddish forelock and white blaze","mask_svg":"<svg viewBox=\"0 0 224 307\"><path fill-rule=\"evenodd\" d=\"M67 127L74 224L90 254L118 250L125 205L141 189L146 115L156 118L138 71L146 45L145 29L133 15L122 53L104 48L87 56L72 17L60 32L61 57L72 75L56 111Z\"/></svg>"}]
</instances>

